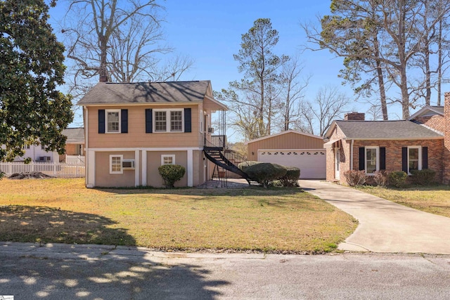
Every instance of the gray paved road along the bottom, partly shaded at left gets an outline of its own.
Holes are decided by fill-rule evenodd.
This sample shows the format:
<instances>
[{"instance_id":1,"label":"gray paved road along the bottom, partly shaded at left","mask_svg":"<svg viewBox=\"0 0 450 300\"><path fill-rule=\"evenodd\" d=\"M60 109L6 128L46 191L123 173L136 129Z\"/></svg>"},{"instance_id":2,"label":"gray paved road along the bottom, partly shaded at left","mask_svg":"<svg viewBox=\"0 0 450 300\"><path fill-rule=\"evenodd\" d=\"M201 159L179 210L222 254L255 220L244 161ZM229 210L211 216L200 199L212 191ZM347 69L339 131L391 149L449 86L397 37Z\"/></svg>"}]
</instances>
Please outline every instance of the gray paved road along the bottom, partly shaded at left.
<instances>
[{"instance_id":1,"label":"gray paved road along the bottom, partly shaded at left","mask_svg":"<svg viewBox=\"0 0 450 300\"><path fill-rule=\"evenodd\" d=\"M0 295L27 299L449 299L450 256L180 254L0 243Z\"/></svg>"}]
</instances>

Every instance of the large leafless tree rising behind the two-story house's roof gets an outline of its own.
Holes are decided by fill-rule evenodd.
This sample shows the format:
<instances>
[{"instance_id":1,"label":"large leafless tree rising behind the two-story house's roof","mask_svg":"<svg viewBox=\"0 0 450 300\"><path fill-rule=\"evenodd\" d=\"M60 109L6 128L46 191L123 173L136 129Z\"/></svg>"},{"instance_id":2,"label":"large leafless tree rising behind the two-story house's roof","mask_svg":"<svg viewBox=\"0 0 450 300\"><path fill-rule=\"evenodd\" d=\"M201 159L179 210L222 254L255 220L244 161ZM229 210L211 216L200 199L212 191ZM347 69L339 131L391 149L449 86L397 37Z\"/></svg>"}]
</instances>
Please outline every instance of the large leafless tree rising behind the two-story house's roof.
<instances>
[{"instance_id":1,"label":"large leafless tree rising behind the two-story house's roof","mask_svg":"<svg viewBox=\"0 0 450 300\"><path fill-rule=\"evenodd\" d=\"M75 98L97 76L116 82L179 79L193 60L164 56L173 49L164 42L163 10L156 0L70 0L62 32Z\"/></svg>"}]
</instances>

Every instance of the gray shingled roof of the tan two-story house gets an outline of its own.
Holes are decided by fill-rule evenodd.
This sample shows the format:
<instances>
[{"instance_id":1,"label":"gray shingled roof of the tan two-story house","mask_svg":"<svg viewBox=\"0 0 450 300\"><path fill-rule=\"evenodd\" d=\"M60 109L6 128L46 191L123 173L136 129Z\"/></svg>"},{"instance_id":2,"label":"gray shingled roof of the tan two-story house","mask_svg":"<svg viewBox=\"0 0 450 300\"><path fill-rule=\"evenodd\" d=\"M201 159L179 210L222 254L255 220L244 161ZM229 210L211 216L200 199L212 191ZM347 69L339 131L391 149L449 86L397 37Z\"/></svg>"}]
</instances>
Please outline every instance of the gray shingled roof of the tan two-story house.
<instances>
[{"instance_id":1,"label":"gray shingled roof of the tan two-story house","mask_svg":"<svg viewBox=\"0 0 450 300\"><path fill-rule=\"evenodd\" d=\"M138 83L99 82L77 104L201 102L205 98L209 85L209 80Z\"/></svg>"}]
</instances>

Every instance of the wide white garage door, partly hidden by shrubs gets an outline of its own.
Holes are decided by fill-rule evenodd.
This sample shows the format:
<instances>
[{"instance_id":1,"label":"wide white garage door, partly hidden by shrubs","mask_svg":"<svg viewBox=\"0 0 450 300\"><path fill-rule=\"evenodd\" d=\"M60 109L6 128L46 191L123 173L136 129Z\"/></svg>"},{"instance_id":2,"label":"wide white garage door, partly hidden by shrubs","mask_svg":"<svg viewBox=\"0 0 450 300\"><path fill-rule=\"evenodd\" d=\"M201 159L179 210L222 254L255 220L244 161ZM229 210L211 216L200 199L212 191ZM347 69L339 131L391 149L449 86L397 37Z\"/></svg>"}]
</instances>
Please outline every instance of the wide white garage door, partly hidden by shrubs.
<instances>
[{"instance_id":1,"label":"wide white garage door, partly hidden by shrubs","mask_svg":"<svg viewBox=\"0 0 450 300\"><path fill-rule=\"evenodd\" d=\"M325 149L261 149L259 162L300 168L300 178L326 178Z\"/></svg>"}]
</instances>

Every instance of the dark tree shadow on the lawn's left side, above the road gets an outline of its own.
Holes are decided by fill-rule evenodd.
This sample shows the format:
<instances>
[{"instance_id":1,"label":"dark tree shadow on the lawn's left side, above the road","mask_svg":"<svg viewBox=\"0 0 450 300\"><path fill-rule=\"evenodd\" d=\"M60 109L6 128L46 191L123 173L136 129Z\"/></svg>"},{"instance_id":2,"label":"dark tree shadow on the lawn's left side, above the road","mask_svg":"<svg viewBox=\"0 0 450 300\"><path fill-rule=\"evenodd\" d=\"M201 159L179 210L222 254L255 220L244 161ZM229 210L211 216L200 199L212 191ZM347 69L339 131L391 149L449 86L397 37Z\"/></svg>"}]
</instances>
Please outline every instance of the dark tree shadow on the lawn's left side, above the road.
<instances>
[{"instance_id":1,"label":"dark tree shadow on the lawn's left side, above the road","mask_svg":"<svg viewBox=\"0 0 450 300\"><path fill-rule=\"evenodd\" d=\"M52 207L0 206L2 241L135 245L126 229L108 227L116 223L104 216Z\"/></svg>"}]
</instances>

